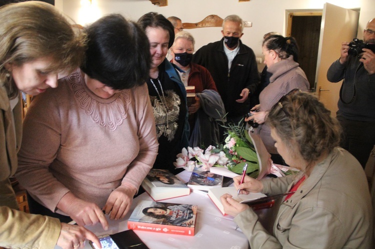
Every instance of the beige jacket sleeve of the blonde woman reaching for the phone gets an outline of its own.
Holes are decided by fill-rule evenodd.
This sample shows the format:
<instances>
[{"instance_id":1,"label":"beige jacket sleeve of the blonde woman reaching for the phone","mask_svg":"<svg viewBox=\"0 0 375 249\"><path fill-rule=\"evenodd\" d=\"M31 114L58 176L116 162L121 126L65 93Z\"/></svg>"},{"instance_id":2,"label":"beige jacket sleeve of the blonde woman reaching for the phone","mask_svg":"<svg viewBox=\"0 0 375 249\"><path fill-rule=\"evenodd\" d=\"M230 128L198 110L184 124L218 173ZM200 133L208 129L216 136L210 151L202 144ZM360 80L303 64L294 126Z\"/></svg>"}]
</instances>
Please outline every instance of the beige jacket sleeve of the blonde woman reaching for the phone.
<instances>
[{"instance_id":1,"label":"beige jacket sleeve of the blonde woman reaching for the phone","mask_svg":"<svg viewBox=\"0 0 375 249\"><path fill-rule=\"evenodd\" d=\"M61 230L58 219L0 207L0 247L54 248Z\"/></svg>"}]
</instances>

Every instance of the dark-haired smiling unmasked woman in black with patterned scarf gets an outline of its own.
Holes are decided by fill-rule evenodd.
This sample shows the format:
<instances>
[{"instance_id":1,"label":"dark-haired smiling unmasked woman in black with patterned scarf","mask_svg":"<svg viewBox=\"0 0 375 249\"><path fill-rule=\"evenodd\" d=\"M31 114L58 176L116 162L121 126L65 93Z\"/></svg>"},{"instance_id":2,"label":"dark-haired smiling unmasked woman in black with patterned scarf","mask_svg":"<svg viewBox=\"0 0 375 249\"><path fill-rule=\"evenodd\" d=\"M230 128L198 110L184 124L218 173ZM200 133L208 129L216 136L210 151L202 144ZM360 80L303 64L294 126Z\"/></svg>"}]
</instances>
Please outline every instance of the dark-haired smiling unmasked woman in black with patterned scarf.
<instances>
[{"instance_id":1,"label":"dark-haired smiling unmasked woman in black with patterned scarf","mask_svg":"<svg viewBox=\"0 0 375 249\"><path fill-rule=\"evenodd\" d=\"M173 162L182 148L188 146L189 124L185 87L176 68L165 58L174 40L173 25L155 12L144 14L138 23L148 37L152 60L146 82L159 142L153 168L177 173Z\"/></svg>"}]
</instances>

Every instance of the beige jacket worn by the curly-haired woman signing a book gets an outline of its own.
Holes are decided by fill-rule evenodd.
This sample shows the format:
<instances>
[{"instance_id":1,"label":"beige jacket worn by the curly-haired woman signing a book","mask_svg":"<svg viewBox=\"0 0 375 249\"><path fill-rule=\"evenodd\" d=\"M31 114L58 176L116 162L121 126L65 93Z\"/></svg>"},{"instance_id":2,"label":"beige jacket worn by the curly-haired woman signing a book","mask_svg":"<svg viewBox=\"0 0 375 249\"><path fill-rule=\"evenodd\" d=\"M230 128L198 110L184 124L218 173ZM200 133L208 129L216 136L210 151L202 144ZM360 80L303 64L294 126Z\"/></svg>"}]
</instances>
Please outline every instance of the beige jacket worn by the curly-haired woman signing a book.
<instances>
[{"instance_id":1,"label":"beige jacket worn by the curly-haired woman signing a book","mask_svg":"<svg viewBox=\"0 0 375 249\"><path fill-rule=\"evenodd\" d=\"M262 180L263 193L285 193L298 181ZM335 148L277 213L272 235L250 209L234 221L251 248L372 248L372 208L365 174L347 151Z\"/></svg>"}]
</instances>

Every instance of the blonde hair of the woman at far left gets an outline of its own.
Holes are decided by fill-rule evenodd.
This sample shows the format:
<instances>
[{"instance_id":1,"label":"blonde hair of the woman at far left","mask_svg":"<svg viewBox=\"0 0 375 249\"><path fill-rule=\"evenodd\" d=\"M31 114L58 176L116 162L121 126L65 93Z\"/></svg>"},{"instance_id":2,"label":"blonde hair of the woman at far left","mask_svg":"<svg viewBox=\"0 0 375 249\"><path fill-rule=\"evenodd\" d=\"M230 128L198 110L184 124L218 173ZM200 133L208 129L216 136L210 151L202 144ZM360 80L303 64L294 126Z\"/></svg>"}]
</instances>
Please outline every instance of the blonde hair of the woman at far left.
<instances>
[{"instance_id":1,"label":"blonde hair of the woman at far left","mask_svg":"<svg viewBox=\"0 0 375 249\"><path fill-rule=\"evenodd\" d=\"M0 8L0 82L8 96L18 90L7 77L6 63L21 66L25 62L48 57L50 70L71 72L83 61L85 41L82 33L75 33L65 16L51 4L26 1Z\"/></svg>"}]
</instances>

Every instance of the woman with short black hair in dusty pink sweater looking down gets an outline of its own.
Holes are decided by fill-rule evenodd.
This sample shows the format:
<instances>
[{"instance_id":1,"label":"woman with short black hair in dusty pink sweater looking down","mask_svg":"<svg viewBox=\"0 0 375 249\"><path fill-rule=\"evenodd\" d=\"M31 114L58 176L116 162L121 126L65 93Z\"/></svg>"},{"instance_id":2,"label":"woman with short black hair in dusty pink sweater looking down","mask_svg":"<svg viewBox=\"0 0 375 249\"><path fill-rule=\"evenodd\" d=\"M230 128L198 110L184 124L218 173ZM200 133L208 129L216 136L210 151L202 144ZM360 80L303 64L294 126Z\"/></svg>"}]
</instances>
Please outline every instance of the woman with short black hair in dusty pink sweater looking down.
<instances>
[{"instance_id":1,"label":"woman with short black hair in dusty pink sweater looking down","mask_svg":"<svg viewBox=\"0 0 375 249\"><path fill-rule=\"evenodd\" d=\"M102 210L111 220L126 215L157 153L144 84L149 44L119 14L83 31L83 66L31 103L16 176L31 197L30 211L78 225L99 222L106 230Z\"/></svg>"}]
</instances>

